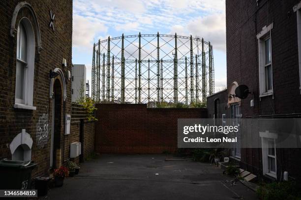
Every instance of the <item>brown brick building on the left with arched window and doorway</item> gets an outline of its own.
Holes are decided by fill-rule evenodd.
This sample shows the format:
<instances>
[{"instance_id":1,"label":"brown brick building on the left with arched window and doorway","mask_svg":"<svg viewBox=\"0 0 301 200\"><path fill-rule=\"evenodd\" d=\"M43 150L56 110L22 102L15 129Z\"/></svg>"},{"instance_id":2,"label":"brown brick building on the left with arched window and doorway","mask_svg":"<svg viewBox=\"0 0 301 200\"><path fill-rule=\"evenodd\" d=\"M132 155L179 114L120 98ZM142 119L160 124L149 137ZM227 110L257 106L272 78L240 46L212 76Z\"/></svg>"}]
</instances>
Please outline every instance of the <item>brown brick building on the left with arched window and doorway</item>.
<instances>
[{"instance_id":1,"label":"brown brick building on the left with arched window and doorway","mask_svg":"<svg viewBox=\"0 0 301 200\"><path fill-rule=\"evenodd\" d=\"M94 134L93 123L69 123L72 0L3 0L0 13L0 159L32 160L33 177L48 174L80 129Z\"/></svg>"}]
</instances>

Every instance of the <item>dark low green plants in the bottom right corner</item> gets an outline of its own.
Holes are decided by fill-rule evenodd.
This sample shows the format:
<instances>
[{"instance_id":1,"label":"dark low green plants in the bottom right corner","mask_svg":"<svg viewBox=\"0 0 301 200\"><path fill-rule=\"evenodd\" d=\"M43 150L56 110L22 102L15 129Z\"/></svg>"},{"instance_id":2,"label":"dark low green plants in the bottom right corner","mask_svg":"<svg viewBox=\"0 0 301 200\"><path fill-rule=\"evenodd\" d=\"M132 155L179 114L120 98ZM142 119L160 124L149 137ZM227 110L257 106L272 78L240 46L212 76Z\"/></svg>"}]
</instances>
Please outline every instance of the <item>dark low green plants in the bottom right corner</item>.
<instances>
[{"instance_id":1,"label":"dark low green plants in the bottom right corner","mask_svg":"<svg viewBox=\"0 0 301 200\"><path fill-rule=\"evenodd\" d=\"M295 181L262 184L256 193L260 200L301 200L300 188Z\"/></svg>"}]
</instances>

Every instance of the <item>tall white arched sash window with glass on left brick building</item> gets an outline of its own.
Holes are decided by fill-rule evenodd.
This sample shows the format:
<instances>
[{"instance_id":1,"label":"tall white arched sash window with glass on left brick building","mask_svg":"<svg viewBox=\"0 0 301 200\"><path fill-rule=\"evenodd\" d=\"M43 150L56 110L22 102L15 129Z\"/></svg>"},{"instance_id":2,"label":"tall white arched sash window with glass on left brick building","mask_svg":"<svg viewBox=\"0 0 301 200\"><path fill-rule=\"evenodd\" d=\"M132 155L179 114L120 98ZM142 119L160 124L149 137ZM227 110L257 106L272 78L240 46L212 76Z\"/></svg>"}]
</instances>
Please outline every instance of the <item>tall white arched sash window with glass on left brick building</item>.
<instances>
[{"instance_id":1,"label":"tall white arched sash window with glass on left brick building","mask_svg":"<svg viewBox=\"0 0 301 200\"><path fill-rule=\"evenodd\" d=\"M28 18L23 18L17 29L17 64L15 108L35 110L33 100L34 32Z\"/></svg>"}]
</instances>

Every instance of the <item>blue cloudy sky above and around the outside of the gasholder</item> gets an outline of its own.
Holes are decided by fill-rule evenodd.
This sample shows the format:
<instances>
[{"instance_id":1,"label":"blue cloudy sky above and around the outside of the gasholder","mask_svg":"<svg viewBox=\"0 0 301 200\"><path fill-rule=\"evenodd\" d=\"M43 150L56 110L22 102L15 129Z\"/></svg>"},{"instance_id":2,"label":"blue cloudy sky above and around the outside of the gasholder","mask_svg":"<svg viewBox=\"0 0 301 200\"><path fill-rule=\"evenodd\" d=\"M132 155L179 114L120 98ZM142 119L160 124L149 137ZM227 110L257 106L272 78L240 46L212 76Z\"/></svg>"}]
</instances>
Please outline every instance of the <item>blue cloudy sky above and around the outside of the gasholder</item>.
<instances>
[{"instance_id":1,"label":"blue cloudy sky above and around the outside of the gasholder","mask_svg":"<svg viewBox=\"0 0 301 200\"><path fill-rule=\"evenodd\" d=\"M90 82L94 41L158 31L210 41L215 92L226 86L225 0L74 0L72 62L87 66Z\"/></svg>"}]
</instances>

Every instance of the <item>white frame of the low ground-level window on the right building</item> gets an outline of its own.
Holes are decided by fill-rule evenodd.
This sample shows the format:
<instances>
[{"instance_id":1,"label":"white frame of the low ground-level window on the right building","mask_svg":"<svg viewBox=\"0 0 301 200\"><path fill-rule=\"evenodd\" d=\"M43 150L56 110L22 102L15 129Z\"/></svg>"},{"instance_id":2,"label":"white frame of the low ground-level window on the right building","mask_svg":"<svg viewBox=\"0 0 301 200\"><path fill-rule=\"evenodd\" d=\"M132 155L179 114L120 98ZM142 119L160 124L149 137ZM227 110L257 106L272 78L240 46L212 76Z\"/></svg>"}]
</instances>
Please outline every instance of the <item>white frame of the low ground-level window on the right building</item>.
<instances>
[{"instance_id":1,"label":"white frame of the low ground-level window on the right building","mask_svg":"<svg viewBox=\"0 0 301 200\"><path fill-rule=\"evenodd\" d=\"M262 168L263 175L269 175L275 179L277 179L277 156L276 156L276 139L277 134L266 132L259 132L259 136L261 137L262 143ZM274 152L275 155L269 155L269 141L273 141L274 143ZM269 169L269 157L275 159L275 171L270 171Z\"/></svg>"}]
</instances>

